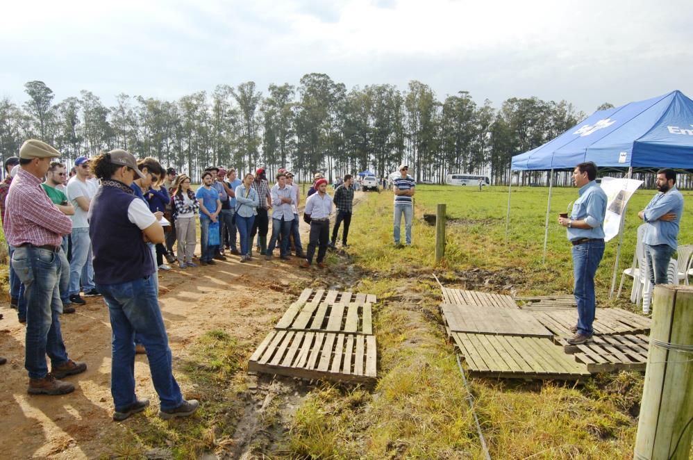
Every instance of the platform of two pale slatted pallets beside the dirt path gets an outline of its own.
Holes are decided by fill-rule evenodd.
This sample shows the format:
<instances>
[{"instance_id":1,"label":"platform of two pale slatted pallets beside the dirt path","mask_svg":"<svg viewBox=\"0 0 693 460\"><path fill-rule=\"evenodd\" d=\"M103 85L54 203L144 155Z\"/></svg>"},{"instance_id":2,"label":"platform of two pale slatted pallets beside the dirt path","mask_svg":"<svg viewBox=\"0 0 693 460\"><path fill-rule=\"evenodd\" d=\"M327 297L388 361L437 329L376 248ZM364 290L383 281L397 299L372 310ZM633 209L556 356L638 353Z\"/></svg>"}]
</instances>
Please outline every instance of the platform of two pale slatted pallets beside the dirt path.
<instances>
[{"instance_id":1,"label":"platform of two pale slatted pallets beside the dirt path","mask_svg":"<svg viewBox=\"0 0 693 460\"><path fill-rule=\"evenodd\" d=\"M251 372L372 383L377 377L376 296L306 289L248 363Z\"/></svg>"}]
</instances>

